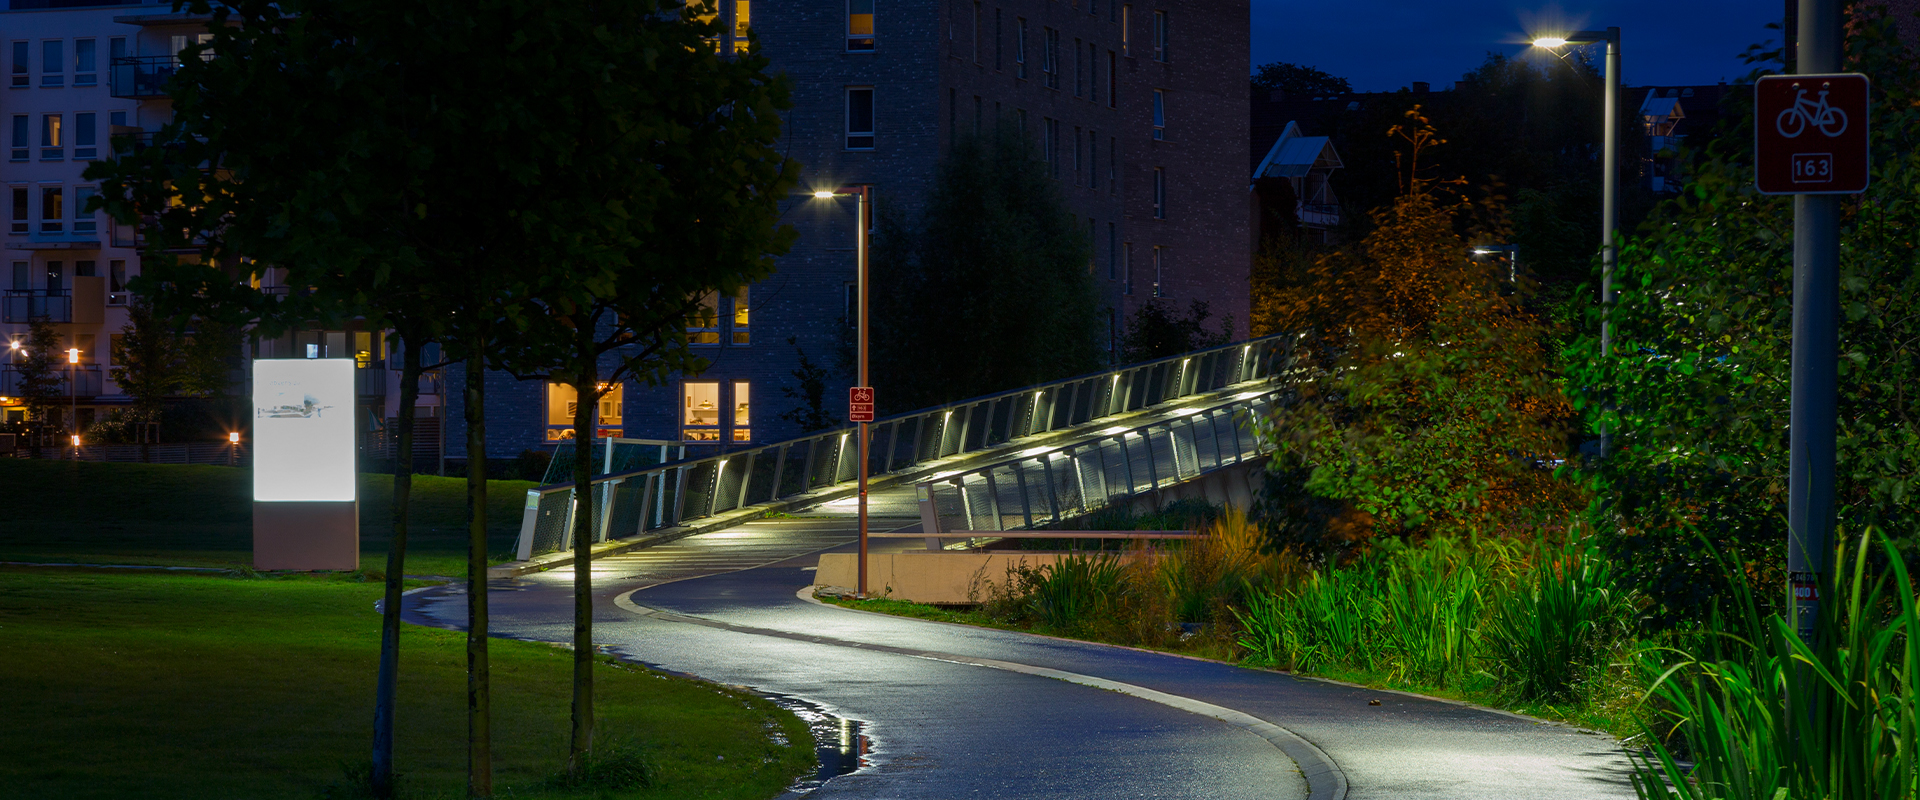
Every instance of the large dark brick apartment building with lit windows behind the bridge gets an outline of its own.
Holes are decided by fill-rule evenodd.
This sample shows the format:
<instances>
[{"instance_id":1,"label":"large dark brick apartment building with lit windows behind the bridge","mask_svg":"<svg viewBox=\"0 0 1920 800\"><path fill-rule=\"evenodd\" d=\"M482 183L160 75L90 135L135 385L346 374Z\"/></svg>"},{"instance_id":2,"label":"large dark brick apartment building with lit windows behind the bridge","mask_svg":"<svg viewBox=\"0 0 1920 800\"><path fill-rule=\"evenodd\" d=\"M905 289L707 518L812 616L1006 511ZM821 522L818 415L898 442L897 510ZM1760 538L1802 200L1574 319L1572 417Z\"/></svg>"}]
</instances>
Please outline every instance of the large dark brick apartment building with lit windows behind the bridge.
<instances>
[{"instance_id":1,"label":"large dark brick apartment building with lit windows behind the bridge","mask_svg":"<svg viewBox=\"0 0 1920 800\"><path fill-rule=\"evenodd\" d=\"M799 401L799 353L831 366L854 318L854 201L814 190L872 184L914 213L935 163L960 136L1018 125L1035 142L1092 242L1117 340L1152 299L1246 332L1246 0L739 0L730 40L747 31L793 82L781 148L801 163L783 221L801 238L778 272L737 297L708 297L718 318L695 332L712 363L670 386L626 384L599 407L601 435L753 447L801 434L781 418ZM952 336L966 336L954 332ZM849 374L828 411L845 414ZM461 426L449 376L451 428ZM872 378L887 391L887 378ZM488 453L511 457L570 435L564 386L488 384ZM447 451L465 455L447 432Z\"/></svg>"}]
</instances>

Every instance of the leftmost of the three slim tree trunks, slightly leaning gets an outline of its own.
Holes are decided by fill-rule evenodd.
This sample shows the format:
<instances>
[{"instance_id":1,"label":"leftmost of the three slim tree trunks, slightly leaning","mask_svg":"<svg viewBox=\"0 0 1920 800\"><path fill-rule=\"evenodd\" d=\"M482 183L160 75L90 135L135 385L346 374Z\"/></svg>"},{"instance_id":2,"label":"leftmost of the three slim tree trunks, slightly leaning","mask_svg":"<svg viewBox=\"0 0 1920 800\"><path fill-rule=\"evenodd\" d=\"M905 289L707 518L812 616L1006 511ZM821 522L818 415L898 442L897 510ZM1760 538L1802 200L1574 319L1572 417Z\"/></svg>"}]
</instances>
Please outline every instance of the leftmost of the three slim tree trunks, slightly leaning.
<instances>
[{"instance_id":1,"label":"leftmost of the three slim tree trunks, slightly leaning","mask_svg":"<svg viewBox=\"0 0 1920 800\"><path fill-rule=\"evenodd\" d=\"M380 608L380 677L372 700L372 796L394 796L394 683L399 679L399 591L407 572L407 501L413 497L413 416L420 401L420 347L397 336L399 449L394 453L394 545L386 551L386 602Z\"/></svg>"}]
</instances>

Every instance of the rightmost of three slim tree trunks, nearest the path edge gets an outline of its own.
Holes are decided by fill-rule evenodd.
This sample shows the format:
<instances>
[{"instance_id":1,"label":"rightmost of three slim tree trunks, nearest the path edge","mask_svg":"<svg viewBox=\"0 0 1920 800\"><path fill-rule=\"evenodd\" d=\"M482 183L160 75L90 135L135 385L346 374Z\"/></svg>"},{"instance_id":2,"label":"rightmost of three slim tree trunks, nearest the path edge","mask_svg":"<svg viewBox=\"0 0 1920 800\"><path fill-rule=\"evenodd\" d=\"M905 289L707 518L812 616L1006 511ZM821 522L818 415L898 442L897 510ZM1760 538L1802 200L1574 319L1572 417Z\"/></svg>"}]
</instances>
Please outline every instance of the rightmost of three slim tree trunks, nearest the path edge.
<instances>
[{"instance_id":1,"label":"rightmost of three slim tree trunks, nearest the path edge","mask_svg":"<svg viewBox=\"0 0 1920 800\"><path fill-rule=\"evenodd\" d=\"M584 779L593 758L593 412L599 407L599 363L593 326L582 324L574 372L574 731L566 771ZM609 443L609 447L612 447Z\"/></svg>"}]
</instances>

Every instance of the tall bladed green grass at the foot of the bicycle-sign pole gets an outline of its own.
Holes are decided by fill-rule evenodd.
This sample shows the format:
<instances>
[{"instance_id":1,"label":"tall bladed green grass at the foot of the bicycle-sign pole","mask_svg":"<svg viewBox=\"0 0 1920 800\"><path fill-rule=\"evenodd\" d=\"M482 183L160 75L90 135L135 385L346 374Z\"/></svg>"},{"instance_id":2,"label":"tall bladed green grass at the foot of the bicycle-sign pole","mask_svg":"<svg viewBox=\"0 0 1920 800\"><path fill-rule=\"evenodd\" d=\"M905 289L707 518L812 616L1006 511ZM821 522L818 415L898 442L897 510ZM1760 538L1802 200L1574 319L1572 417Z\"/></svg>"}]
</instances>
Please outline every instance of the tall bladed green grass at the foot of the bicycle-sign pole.
<instances>
[{"instance_id":1,"label":"tall bladed green grass at the foot of the bicycle-sign pole","mask_svg":"<svg viewBox=\"0 0 1920 800\"><path fill-rule=\"evenodd\" d=\"M1636 758L1642 798L1920 796L1920 614L1891 543L1880 543L1885 568L1868 568L1872 537L1837 549L1812 643L1795 633L1791 608L1761 616L1741 572L1728 570L1743 616L1715 620L1728 629L1707 648L1720 654L1645 654L1649 694L1670 706L1672 733L1695 767L1684 769L1665 731L1649 729L1653 744Z\"/></svg>"}]
</instances>

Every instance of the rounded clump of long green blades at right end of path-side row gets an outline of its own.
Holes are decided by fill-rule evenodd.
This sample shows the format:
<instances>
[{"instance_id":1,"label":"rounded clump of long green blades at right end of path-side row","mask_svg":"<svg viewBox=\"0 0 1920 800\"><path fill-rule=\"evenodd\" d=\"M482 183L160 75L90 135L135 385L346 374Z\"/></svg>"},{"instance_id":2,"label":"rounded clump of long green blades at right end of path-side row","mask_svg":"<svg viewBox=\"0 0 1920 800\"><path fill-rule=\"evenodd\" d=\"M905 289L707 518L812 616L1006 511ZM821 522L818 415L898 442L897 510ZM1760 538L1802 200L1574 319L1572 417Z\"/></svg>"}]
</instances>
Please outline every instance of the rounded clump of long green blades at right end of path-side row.
<instances>
[{"instance_id":1,"label":"rounded clump of long green blades at right end of path-side row","mask_svg":"<svg viewBox=\"0 0 1920 800\"><path fill-rule=\"evenodd\" d=\"M1571 700L1624 635L1632 608L1594 539L1540 543L1532 576L1496 602L1484 629L1488 666L1523 700Z\"/></svg>"}]
</instances>

